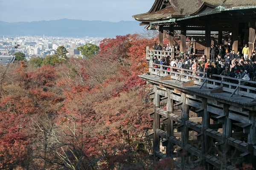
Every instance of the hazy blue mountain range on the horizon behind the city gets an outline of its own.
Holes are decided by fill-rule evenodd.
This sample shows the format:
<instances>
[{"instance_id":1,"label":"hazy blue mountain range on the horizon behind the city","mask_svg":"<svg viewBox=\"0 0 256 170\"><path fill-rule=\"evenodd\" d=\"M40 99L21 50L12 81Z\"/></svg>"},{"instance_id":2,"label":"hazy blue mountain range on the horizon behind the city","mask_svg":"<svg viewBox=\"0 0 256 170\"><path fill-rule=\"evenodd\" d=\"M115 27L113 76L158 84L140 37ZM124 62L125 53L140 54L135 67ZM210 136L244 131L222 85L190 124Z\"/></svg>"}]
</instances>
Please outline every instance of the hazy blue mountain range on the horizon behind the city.
<instances>
[{"instance_id":1,"label":"hazy blue mountain range on the horizon behind the city","mask_svg":"<svg viewBox=\"0 0 256 170\"><path fill-rule=\"evenodd\" d=\"M115 37L140 33L143 26L137 21L49 20L7 23L0 21L0 36L58 36L58 37Z\"/></svg>"}]
</instances>

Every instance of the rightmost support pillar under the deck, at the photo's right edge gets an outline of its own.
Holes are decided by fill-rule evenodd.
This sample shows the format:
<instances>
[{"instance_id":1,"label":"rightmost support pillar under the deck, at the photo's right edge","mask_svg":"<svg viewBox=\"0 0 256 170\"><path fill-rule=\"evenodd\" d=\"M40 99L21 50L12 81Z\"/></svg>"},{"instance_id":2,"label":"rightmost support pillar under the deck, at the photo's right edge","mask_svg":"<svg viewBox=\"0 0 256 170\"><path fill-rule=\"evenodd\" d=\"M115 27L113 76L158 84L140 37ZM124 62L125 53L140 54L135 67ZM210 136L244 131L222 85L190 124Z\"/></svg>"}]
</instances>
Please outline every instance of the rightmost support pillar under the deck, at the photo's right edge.
<instances>
[{"instance_id":1,"label":"rightmost support pillar under the deck, at the photo's right edge","mask_svg":"<svg viewBox=\"0 0 256 170\"><path fill-rule=\"evenodd\" d=\"M249 112L249 123L252 124L250 126L250 132L248 133L248 152L250 153L250 158L249 158L249 163L253 165L253 167L256 167L256 156L254 156L254 147L253 145L256 144L256 116L255 116L255 111L250 111Z\"/></svg>"}]
</instances>

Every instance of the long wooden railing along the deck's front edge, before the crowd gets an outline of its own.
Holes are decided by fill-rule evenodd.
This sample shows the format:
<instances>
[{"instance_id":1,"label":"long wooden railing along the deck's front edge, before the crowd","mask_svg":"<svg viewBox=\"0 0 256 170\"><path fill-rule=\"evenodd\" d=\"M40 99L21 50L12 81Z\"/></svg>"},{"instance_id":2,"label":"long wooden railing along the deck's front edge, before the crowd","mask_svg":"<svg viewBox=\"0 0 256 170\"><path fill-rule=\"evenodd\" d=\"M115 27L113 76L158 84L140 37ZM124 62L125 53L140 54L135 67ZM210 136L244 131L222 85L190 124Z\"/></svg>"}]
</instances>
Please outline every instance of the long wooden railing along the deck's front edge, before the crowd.
<instances>
[{"instance_id":1,"label":"long wooden railing along the deck's front edge, before the crowd","mask_svg":"<svg viewBox=\"0 0 256 170\"><path fill-rule=\"evenodd\" d=\"M213 74L216 79L207 79L206 72L192 71L184 68L177 68L172 66L157 65L157 68L152 66L150 68L150 74L155 75L155 77L164 77L171 75L175 82L187 82L189 80L194 80L195 85L200 86L199 88L217 88L219 86L223 87L224 92L229 92L230 97L234 94L239 96L247 96L251 98L256 98L256 82L250 80L236 79L232 77L220 76ZM165 68L165 69L164 69ZM170 71L166 70L170 68ZM173 71L173 69L177 71Z\"/></svg>"}]
</instances>

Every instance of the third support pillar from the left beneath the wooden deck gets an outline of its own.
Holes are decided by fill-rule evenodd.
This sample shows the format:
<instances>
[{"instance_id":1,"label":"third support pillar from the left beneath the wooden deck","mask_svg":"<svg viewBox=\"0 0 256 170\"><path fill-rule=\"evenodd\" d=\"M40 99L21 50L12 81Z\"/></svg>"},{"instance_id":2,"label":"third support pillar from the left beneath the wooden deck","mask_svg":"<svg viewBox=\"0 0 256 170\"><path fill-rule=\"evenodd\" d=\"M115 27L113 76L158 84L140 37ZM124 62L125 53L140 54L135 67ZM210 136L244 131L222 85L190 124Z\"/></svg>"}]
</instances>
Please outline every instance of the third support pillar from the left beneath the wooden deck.
<instances>
[{"instance_id":1,"label":"third support pillar from the left beneath the wooden deck","mask_svg":"<svg viewBox=\"0 0 256 170\"><path fill-rule=\"evenodd\" d=\"M181 131L181 147L182 147L182 156L181 156L181 169L184 169L185 159L188 158L186 155L186 144L189 141L189 129L186 126L186 120L189 119L189 105L186 105L186 94L181 93L181 102L182 102L182 110L181 110L181 121L182 121L182 131Z\"/></svg>"}]
</instances>

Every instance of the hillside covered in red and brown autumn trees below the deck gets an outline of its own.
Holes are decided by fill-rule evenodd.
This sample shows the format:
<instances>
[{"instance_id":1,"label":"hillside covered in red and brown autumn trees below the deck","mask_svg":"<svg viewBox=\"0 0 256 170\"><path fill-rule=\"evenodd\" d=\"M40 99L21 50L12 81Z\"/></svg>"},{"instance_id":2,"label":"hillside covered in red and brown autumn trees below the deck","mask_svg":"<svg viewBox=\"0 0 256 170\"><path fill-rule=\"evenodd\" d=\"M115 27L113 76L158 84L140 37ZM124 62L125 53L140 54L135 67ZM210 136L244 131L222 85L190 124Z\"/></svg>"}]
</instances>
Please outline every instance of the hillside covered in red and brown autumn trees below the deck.
<instances>
[{"instance_id":1,"label":"hillside covered in red and brown autumn trees below the deck","mask_svg":"<svg viewBox=\"0 0 256 170\"><path fill-rule=\"evenodd\" d=\"M0 65L0 169L150 168L152 103L137 75L153 44L128 34L86 59Z\"/></svg>"}]
</instances>

